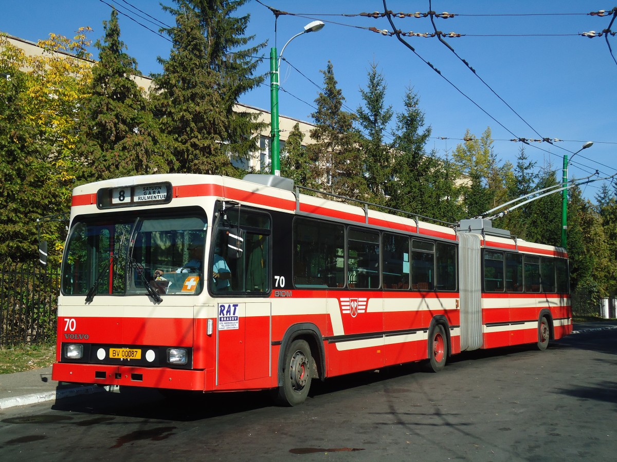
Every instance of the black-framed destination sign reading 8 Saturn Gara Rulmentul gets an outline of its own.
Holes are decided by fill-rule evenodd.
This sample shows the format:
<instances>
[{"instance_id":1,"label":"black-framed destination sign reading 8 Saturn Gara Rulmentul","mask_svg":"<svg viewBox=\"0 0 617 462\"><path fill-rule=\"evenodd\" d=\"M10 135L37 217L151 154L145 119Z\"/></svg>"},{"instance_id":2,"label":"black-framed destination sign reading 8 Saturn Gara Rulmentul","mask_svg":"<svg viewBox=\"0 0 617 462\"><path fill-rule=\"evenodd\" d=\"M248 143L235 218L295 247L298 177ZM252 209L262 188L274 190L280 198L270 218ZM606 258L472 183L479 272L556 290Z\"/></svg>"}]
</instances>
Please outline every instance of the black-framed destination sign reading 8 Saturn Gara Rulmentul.
<instances>
[{"instance_id":1,"label":"black-framed destination sign reading 8 Saturn Gara Rulmentul","mask_svg":"<svg viewBox=\"0 0 617 462\"><path fill-rule=\"evenodd\" d=\"M168 182L132 185L99 190L99 208L169 203L172 185Z\"/></svg>"}]
</instances>

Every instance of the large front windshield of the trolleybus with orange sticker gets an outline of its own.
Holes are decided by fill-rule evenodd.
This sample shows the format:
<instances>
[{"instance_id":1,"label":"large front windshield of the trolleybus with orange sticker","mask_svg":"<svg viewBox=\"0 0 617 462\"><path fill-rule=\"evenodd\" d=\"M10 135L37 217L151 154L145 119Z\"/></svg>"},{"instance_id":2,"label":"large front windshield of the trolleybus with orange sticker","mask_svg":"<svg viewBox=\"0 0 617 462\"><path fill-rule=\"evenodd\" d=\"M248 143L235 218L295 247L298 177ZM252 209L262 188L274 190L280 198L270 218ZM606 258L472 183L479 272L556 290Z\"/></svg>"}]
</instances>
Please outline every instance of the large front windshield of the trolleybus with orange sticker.
<instances>
[{"instance_id":1,"label":"large front windshield of the trolleybus with orange sticker","mask_svg":"<svg viewBox=\"0 0 617 462\"><path fill-rule=\"evenodd\" d=\"M204 284L207 219L171 216L98 216L77 219L67 240L62 293L198 294Z\"/></svg>"}]
</instances>

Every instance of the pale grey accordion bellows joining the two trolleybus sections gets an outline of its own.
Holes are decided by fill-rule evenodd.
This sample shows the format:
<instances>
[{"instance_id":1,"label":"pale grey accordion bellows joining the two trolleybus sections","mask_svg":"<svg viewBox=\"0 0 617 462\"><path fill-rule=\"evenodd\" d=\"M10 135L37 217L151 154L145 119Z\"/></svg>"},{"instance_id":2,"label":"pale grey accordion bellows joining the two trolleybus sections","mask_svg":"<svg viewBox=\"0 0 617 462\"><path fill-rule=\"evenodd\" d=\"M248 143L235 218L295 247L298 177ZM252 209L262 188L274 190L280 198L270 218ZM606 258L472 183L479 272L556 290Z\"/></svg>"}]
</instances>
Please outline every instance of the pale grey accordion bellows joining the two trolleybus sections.
<instances>
[{"instance_id":1,"label":"pale grey accordion bellows joining the two trolleybus sections","mask_svg":"<svg viewBox=\"0 0 617 462\"><path fill-rule=\"evenodd\" d=\"M478 234L459 233L461 351L482 347L482 278Z\"/></svg>"}]
</instances>

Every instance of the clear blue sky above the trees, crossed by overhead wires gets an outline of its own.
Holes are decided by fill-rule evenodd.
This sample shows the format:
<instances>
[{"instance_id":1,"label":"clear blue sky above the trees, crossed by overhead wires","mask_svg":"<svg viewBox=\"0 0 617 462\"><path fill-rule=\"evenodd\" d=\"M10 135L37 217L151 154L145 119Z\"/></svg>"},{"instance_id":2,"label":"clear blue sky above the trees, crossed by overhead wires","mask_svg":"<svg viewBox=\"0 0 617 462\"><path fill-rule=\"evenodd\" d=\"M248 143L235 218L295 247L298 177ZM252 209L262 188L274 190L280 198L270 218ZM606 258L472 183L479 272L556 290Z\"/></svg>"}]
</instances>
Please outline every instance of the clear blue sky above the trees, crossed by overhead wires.
<instances>
[{"instance_id":1,"label":"clear blue sky above the trees, crossed by overhead wires","mask_svg":"<svg viewBox=\"0 0 617 462\"><path fill-rule=\"evenodd\" d=\"M169 4L170 0L164 2ZM312 20L326 23L323 30L294 39L284 52L285 60L293 67L281 63L282 115L311 121L318 87L323 84L320 70L326 68L328 60L333 63L348 110L356 110L362 103L359 89L366 85L367 71L374 62L387 84L387 103L395 111L402 110L406 88L418 94L426 124L433 129L426 148L435 149L441 157L462 142L466 130L479 137L490 126L495 153L502 160L516 161L521 143L510 139L560 139L563 141L554 145L532 142L526 147L538 168L550 164L560 177L563 155L571 156L584 142L593 141L594 145L580 152L570 164L570 176L584 177L595 169L601 176L617 171L617 36L608 37L614 59L605 36L578 35L608 28L611 16L589 12L610 10L611 4L596 0L433 0L437 13L455 14L452 18L435 18L435 23L445 33L463 34L445 40L476 70L474 75L437 38L405 38L414 47L414 54L394 36L367 30L371 26L392 30L386 18L358 15L383 11L383 0L262 3L291 13L278 18L275 33L275 16L267 7L251 0L240 10L251 14L247 34L254 34L256 43L268 42L263 49L265 58L271 46L277 46L280 52L305 24ZM145 75L159 72L157 56L167 57L171 44L147 30L158 27L130 7L171 24L172 18L155 0L2 0L0 31L36 42L49 33L73 36L80 26L91 26L94 42L103 34L102 21L109 19L108 4L117 5L121 13L121 38L128 53L138 61L139 70ZM429 10L428 0L387 0L386 4L394 12ZM430 18L396 18L395 25L404 32L434 31ZM611 30L617 31L617 20ZM92 51L96 55L94 47ZM265 59L260 72L268 71ZM240 102L269 110L270 87L260 86ZM593 198L598 185L588 185L585 195Z\"/></svg>"}]
</instances>

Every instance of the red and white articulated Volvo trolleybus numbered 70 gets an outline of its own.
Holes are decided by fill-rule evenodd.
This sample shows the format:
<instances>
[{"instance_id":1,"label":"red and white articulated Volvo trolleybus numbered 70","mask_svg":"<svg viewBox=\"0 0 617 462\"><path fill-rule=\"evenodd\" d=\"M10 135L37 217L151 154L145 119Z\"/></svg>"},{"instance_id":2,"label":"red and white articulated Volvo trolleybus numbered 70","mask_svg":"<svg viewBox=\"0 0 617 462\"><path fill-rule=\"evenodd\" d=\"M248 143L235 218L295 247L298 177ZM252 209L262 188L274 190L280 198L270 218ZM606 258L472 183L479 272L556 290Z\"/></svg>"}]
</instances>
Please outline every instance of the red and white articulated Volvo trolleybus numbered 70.
<instances>
[{"instance_id":1,"label":"red and white articulated Volvo trolleybus numbered 70","mask_svg":"<svg viewBox=\"0 0 617 462\"><path fill-rule=\"evenodd\" d=\"M313 379L571 332L565 249L324 197L269 175L75 188L52 378L297 405Z\"/></svg>"}]
</instances>

